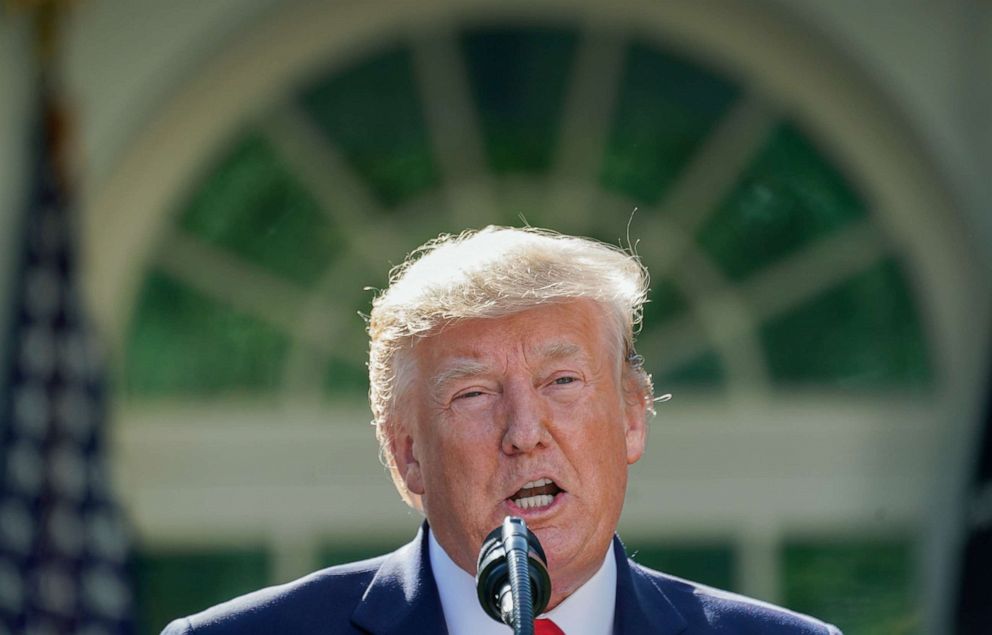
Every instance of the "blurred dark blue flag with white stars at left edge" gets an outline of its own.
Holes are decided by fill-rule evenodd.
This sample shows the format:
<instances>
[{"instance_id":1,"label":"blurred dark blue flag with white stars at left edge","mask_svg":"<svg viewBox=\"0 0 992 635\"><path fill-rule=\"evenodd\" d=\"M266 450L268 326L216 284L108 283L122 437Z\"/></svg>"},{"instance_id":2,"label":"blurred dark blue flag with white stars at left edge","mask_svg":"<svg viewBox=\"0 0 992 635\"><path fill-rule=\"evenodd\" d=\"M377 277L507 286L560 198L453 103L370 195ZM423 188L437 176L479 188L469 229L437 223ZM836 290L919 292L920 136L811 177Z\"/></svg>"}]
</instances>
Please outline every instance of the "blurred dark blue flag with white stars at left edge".
<instances>
[{"instance_id":1,"label":"blurred dark blue flag with white stars at left edge","mask_svg":"<svg viewBox=\"0 0 992 635\"><path fill-rule=\"evenodd\" d=\"M60 169L64 134L42 92L0 347L0 635L133 633L128 536L107 478L102 363L83 315Z\"/></svg>"}]
</instances>

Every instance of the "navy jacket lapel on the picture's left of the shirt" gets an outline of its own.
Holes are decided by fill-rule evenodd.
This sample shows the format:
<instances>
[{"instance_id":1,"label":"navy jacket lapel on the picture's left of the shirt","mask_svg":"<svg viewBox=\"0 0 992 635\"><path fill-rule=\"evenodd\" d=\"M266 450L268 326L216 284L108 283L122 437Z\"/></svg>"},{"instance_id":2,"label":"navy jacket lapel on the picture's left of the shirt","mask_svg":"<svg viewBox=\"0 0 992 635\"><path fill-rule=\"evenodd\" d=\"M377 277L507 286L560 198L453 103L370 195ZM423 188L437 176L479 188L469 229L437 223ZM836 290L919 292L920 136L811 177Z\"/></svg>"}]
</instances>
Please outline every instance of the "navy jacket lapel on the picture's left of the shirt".
<instances>
[{"instance_id":1,"label":"navy jacket lapel on the picture's left of the shirt","mask_svg":"<svg viewBox=\"0 0 992 635\"><path fill-rule=\"evenodd\" d=\"M427 552L427 524L413 542L389 555L351 615L375 635L447 634L441 598Z\"/></svg>"}]
</instances>

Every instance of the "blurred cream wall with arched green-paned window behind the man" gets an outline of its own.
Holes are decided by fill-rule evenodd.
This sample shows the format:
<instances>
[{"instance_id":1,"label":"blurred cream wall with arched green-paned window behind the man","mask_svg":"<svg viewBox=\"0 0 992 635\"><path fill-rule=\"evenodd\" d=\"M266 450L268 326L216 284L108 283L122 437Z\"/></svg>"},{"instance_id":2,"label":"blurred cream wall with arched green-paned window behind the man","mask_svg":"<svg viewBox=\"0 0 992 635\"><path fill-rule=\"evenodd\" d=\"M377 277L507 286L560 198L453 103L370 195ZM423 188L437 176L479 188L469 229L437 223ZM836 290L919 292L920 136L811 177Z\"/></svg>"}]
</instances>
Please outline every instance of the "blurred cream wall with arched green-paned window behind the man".
<instances>
[{"instance_id":1,"label":"blurred cream wall with arched green-paned window behind the man","mask_svg":"<svg viewBox=\"0 0 992 635\"><path fill-rule=\"evenodd\" d=\"M0 14L5 305L32 11ZM409 540L360 314L491 223L651 271L635 559L848 635L990 632L988 2L90 0L59 38L139 633Z\"/></svg>"}]
</instances>

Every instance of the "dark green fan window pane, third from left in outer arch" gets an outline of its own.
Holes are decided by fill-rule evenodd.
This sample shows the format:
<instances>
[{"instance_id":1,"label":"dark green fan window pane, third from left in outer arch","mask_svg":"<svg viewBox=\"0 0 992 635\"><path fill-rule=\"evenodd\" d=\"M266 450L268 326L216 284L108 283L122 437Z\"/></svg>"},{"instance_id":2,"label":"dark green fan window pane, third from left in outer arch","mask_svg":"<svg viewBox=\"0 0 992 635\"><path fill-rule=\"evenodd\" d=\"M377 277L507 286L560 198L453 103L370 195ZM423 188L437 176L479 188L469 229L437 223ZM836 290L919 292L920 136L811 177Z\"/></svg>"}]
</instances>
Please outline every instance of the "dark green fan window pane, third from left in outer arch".
<instances>
[{"instance_id":1,"label":"dark green fan window pane, third from left in outer arch","mask_svg":"<svg viewBox=\"0 0 992 635\"><path fill-rule=\"evenodd\" d=\"M386 207L437 186L410 53L393 49L317 82L301 104Z\"/></svg>"}]
</instances>

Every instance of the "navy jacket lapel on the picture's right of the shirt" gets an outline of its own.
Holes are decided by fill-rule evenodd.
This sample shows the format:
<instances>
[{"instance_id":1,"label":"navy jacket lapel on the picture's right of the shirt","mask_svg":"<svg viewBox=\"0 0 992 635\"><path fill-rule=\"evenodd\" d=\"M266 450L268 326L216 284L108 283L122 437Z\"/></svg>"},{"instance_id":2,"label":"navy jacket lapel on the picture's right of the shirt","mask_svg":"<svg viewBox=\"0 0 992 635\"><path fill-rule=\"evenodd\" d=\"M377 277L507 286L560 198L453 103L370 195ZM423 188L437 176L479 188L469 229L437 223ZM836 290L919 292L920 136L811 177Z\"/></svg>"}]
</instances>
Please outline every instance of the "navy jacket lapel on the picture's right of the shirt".
<instances>
[{"instance_id":1,"label":"navy jacket lapel on the picture's right of the shirt","mask_svg":"<svg viewBox=\"0 0 992 635\"><path fill-rule=\"evenodd\" d=\"M617 602L613 632L622 635L674 635L685 630L682 614L646 573L631 566L620 539L613 538L617 560Z\"/></svg>"}]
</instances>

